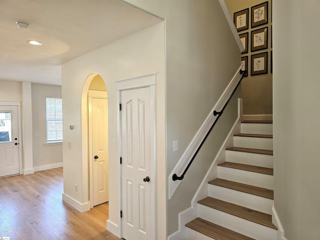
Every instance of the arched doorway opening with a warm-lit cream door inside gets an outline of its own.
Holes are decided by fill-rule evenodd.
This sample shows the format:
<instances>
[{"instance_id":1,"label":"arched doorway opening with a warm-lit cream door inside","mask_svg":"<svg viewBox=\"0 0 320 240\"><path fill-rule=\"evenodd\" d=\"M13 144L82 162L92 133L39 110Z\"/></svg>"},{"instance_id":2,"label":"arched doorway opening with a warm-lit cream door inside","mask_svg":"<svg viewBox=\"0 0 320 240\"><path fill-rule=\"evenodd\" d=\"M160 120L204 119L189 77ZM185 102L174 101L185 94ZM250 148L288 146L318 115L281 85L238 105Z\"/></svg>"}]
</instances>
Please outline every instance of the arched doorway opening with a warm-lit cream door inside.
<instances>
[{"instance_id":1,"label":"arched doorway opening with a warm-lit cream door inside","mask_svg":"<svg viewBox=\"0 0 320 240\"><path fill-rule=\"evenodd\" d=\"M108 201L107 91L102 77L91 73L81 99L82 157L87 160L90 208Z\"/></svg>"}]
</instances>

